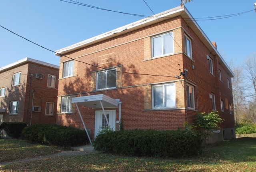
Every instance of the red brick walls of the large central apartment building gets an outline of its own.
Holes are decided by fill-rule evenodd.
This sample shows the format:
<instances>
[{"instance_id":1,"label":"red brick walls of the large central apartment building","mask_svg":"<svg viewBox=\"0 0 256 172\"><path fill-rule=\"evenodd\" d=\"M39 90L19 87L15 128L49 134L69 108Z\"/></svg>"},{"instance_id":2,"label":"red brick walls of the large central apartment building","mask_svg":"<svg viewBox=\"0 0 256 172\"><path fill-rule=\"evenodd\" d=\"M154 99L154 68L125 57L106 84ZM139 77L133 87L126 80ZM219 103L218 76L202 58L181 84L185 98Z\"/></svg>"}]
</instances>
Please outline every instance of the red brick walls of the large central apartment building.
<instances>
[{"instance_id":1,"label":"red brick walls of the large central apartment building","mask_svg":"<svg viewBox=\"0 0 256 172\"><path fill-rule=\"evenodd\" d=\"M166 32L166 30L173 30L174 32L174 39L176 40L174 42L174 54L162 58L150 59L151 54L148 52L151 51L151 45L148 40L150 40L151 36ZM181 51L181 48L184 48L184 45L182 45L184 32L192 39L193 60ZM211 93L215 94L216 110L220 109L220 102L217 100L220 99L219 90L222 89L218 83L218 68L220 68L217 65L218 59L211 54L210 50L208 50L191 28L187 27L186 22L178 17L111 38L86 48L81 48L65 55L75 58L80 62L75 62L74 68L77 70L74 70L74 76L61 78L62 62L70 59L64 56L60 58L61 79L59 80L58 108L60 108L61 104L60 97L63 95L87 96L105 94L111 98L120 99L123 102L121 105L121 114L124 129L156 130L171 130L183 127L187 119L189 123L192 123L193 116L196 115L197 110L198 112L211 112L212 102L209 98L209 94ZM209 72L209 60L206 59L206 55L209 55L213 60L214 75ZM95 82L95 78L92 78L92 73L102 69L85 63L102 68L122 66L122 72L161 76L122 73L120 88L94 91L91 89L92 82ZM195 67L194 70L192 70L192 65ZM145 108L145 104L148 105L151 103L151 100L148 101L148 95L144 95L145 89L148 89L148 86L152 84L160 82L182 83L180 85L184 86L184 80L180 81L175 78L176 75L184 71L184 68L188 69L187 82L198 86L198 96L196 87L194 88L195 110L186 110L186 104L184 102L185 94L184 91L180 92L184 88L178 90L176 88L176 103L179 104L179 108L173 110L152 110ZM224 70L223 73L225 73ZM227 94L229 101L231 101L232 92L228 92ZM80 107L80 110L86 127L91 129L92 136L94 136L95 110L85 107ZM116 120L119 120L118 116L119 111L116 108ZM227 122L222 126L232 127L234 123L232 118L231 120L227 118L225 120ZM57 124L83 128L77 110L75 114L58 114ZM118 124L116 124L116 128L118 128Z\"/></svg>"}]
</instances>

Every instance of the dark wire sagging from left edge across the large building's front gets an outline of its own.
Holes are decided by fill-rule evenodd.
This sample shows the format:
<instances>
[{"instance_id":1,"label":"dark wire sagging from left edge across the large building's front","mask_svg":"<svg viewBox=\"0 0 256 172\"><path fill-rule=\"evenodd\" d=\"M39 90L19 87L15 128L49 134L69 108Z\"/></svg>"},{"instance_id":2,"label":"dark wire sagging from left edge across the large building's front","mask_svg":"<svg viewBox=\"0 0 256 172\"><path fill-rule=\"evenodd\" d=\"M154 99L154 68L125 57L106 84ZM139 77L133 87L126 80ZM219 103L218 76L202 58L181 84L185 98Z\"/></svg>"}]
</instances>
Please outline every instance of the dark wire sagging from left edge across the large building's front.
<instances>
[{"instance_id":1,"label":"dark wire sagging from left edge across the large building's front","mask_svg":"<svg viewBox=\"0 0 256 172\"><path fill-rule=\"evenodd\" d=\"M9 32L11 32L11 33L13 33L13 34L15 34L15 35L17 35L17 36L19 36L19 37L21 37L21 38L27 40L28 42L31 42L31 43L33 43L33 44L35 44L35 45L37 45L37 46L40 46L41 48L44 48L44 49L46 49L46 50L48 50L48 51L50 51L50 52L54 52L53 50L50 50L50 49L48 49L48 48L45 48L44 46L41 46L41 45L39 45L39 44L36 44L35 42L32 42L31 40L28 40L27 38L24 38L23 36L20 36L20 35L18 35L18 34L16 34L16 33L12 32L11 30L9 30L9 29L7 29L7 28L1 26L1 25L0 25L0 27L2 27L2 28L4 28L5 30L8 30ZM59 53L57 53L57 52L54 52L54 53L59 54ZM59 54L59 55L60 55L60 56L64 56L64 57L66 57L66 58L69 58L69 59L71 59L71 60L77 61L77 62L81 62L81 63L87 64L87 65L89 65L89 66L101 68L101 69L104 69L104 70L111 70L111 69L103 68L103 67L100 67L100 66L97 66L97 65L94 65L94 64L89 64L89 63L86 63L86 62L82 62L82 61L76 60L76 59L74 59L74 58L71 58L71 57L62 55L62 54ZM116 70L114 70L114 71L116 71ZM121 72L121 73L126 73L126 74L147 75L147 76L163 76L163 77L175 78L175 76L166 76L166 75L140 74L140 73L123 72L123 71L116 71L116 72Z\"/></svg>"}]
</instances>

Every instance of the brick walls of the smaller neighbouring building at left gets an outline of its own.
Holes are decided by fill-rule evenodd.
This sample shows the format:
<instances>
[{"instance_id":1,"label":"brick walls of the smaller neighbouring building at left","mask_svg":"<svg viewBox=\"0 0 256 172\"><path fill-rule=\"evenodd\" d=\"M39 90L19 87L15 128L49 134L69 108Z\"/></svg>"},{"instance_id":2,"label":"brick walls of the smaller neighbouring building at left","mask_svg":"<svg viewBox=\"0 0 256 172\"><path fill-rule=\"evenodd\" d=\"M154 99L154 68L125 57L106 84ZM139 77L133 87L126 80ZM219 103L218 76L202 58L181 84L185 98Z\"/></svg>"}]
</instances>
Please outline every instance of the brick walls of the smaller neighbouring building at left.
<instances>
[{"instance_id":1,"label":"brick walls of the smaller neighbouring building at left","mask_svg":"<svg viewBox=\"0 0 256 172\"><path fill-rule=\"evenodd\" d=\"M12 76L14 73L22 72L18 86L12 86ZM35 78L36 73L43 74L43 79ZM31 81L31 74L32 81ZM55 88L47 87L48 74L56 76ZM19 121L28 122L28 124L48 123L56 124L56 108L57 108L57 95L58 95L58 75L59 70L48 66L42 66L28 62L18 67L8 69L0 73L0 80L4 81L0 83L0 88L6 87L6 96L0 98L1 108L6 108L4 113L4 122ZM31 88L30 88L31 81ZM29 92L31 94L29 96ZM34 99L33 99L34 92ZM10 102L19 100L18 114L10 115L9 108ZM30 100L30 101L28 101ZM54 114L53 116L45 115L45 106L47 102L54 102ZM30 104L30 106L28 106ZM40 106L41 112L31 112L32 106ZM31 118L32 113L32 118Z\"/></svg>"}]
</instances>

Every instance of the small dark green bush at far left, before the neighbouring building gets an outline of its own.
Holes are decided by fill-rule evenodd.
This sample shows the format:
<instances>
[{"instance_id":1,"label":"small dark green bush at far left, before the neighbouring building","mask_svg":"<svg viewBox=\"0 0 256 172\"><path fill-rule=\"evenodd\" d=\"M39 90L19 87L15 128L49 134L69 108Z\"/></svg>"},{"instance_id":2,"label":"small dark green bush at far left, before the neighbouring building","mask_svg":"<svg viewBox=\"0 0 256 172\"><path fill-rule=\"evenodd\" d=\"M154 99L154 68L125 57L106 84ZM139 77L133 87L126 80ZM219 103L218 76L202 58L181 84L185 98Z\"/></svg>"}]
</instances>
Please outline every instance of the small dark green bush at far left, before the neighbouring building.
<instances>
[{"instance_id":1,"label":"small dark green bush at far left, before the neighbouring building","mask_svg":"<svg viewBox=\"0 0 256 172\"><path fill-rule=\"evenodd\" d=\"M3 122L1 128L12 138L19 138L22 130L27 126L24 122Z\"/></svg>"}]
</instances>

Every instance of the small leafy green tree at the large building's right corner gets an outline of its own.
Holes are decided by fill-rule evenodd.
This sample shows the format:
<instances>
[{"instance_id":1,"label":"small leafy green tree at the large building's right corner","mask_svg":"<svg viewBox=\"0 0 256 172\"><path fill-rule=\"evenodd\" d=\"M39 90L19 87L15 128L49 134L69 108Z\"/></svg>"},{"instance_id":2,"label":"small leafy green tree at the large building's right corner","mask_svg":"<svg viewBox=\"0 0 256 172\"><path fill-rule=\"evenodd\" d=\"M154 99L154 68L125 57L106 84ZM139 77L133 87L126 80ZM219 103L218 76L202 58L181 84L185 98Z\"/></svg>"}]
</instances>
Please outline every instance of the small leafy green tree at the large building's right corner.
<instances>
[{"instance_id":1,"label":"small leafy green tree at the large building's right corner","mask_svg":"<svg viewBox=\"0 0 256 172\"><path fill-rule=\"evenodd\" d=\"M219 117L218 111L210 112L209 114L203 112L198 113L196 120L192 124L192 128L202 131L204 148L206 147L206 140L212 136L212 130L220 128L219 124L224 120Z\"/></svg>"}]
</instances>

